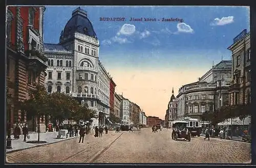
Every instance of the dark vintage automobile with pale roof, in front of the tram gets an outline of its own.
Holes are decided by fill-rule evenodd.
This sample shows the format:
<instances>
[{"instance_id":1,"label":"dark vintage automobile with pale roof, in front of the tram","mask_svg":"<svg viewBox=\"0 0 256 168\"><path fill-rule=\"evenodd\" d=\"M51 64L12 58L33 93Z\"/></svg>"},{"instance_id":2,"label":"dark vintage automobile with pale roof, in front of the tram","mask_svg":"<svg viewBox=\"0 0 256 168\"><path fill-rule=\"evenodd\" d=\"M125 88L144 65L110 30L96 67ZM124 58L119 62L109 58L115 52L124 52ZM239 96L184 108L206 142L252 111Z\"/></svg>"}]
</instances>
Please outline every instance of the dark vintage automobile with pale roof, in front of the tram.
<instances>
[{"instance_id":1,"label":"dark vintage automobile with pale roof, in front of the tram","mask_svg":"<svg viewBox=\"0 0 256 168\"><path fill-rule=\"evenodd\" d=\"M174 121L172 123L172 139L175 141L178 140L178 138L185 138L190 142L191 140L191 132L187 128L187 122L186 121Z\"/></svg>"}]
</instances>

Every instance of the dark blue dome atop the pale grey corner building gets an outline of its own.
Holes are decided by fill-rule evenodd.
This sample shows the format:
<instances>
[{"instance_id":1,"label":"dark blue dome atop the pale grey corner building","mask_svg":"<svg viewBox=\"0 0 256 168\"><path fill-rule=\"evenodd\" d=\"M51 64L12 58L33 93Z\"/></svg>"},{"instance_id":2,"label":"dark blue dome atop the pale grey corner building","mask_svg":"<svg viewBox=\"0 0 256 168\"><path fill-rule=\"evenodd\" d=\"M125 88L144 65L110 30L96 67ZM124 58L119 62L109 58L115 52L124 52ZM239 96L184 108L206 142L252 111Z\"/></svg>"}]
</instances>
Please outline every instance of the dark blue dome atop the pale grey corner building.
<instances>
[{"instance_id":1,"label":"dark blue dome atop the pale grey corner building","mask_svg":"<svg viewBox=\"0 0 256 168\"><path fill-rule=\"evenodd\" d=\"M63 37L74 35L75 32L96 38L93 25L87 18L87 12L82 10L80 7L72 12L72 17L66 24L63 31Z\"/></svg>"}]
</instances>

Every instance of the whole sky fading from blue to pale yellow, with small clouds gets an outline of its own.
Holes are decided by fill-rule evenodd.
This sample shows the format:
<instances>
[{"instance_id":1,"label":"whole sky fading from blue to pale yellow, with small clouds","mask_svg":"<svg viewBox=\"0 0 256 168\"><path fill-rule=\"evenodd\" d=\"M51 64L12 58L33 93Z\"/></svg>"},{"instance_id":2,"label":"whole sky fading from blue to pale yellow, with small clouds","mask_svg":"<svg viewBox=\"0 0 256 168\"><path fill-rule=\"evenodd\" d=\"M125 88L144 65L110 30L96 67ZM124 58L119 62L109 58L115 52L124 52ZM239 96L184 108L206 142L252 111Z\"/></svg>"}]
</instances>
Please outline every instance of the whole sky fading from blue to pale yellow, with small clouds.
<instances>
[{"instance_id":1,"label":"whole sky fading from blue to pale yellow, with small clouds","mask_svg":"<svg viewBox=\"0 0 256 168\"><path fill-rule=\"evenodd\" d=\"M79 6L47 6L44 42L59 36ZM146 116L164 120L172 88L196 82L212 64L230 60L227 48L244 29L249 7L80 6L100 42L99 60L116 83L116 93L138 104ZM100 18L124 18L102 21ZM142 21L130 21L142 18ZM145 21L145 19L155 21ZM162 19L175 19L162 21Z\"/></svg>"}]
</instances>

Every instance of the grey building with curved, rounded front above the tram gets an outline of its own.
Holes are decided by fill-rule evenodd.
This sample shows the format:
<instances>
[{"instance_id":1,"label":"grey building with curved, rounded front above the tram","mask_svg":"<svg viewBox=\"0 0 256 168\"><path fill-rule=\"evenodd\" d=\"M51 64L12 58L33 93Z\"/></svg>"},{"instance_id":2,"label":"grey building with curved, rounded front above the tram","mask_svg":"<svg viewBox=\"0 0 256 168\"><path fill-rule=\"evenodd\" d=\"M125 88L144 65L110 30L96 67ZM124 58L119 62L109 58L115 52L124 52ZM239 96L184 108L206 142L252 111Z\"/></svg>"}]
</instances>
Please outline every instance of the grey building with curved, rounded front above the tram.
<instances>
[{"instance_id":1,"label":"grey building with curved, rounded front above the tram","mask_svg":"<svg viewBox=\"0 0 256 168\"><path fill-rule=\"evenodd\" d=\"M221 61L206 72L199 81L179 89L178 119L191 117L201 120L205 111L213 111L228 105L228 87L231 77L231 61Z\"/></svg>"}]
</instances>

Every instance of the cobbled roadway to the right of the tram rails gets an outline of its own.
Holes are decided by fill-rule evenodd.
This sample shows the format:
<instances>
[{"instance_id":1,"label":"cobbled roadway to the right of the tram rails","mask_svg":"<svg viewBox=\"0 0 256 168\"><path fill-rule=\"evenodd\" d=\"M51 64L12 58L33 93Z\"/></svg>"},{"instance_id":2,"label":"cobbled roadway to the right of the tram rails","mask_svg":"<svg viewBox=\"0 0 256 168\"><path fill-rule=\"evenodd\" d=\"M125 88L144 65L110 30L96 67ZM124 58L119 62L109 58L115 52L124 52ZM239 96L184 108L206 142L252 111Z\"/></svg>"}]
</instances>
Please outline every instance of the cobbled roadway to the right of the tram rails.
<instances>
[{"instance_id":1,"label":"cobbled roadway to the right of the tram rails","mask_svg":"<svg viewBox=\"0 0 256 168\"><path fill-rule=\"evenodd\" d=\"M174 141L169 130L126 132L94 162L105 163L244 163L250 144L204 137ZM114 155L114 156L113 156Z\"/></svg>"}]
</instances>

